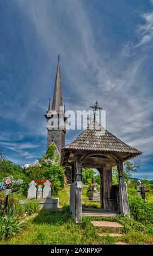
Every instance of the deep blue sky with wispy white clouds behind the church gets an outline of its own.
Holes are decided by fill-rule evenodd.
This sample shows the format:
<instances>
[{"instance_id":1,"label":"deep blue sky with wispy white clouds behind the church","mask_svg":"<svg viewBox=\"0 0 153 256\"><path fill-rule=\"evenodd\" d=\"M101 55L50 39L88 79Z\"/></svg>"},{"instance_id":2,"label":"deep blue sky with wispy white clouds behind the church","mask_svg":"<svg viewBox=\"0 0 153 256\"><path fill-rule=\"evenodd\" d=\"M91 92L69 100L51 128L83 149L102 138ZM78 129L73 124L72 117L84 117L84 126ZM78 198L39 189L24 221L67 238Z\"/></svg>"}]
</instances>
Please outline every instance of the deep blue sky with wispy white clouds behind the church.
<instances>
[{"instance_id":1,"label":"deep blue sky with wispy white clouds behind the church","mask_svg":"<svg viewBox=\"0 0 153 256\"><path fill-rule=\"evenodd\" d=\"M142 150L153 179L153 1L1 0L0 147L21 166L45 154L60 54L66 109L106 110L106 129ZM69 144L80 131L68 131Z\"/></svg>"}]
</instances>

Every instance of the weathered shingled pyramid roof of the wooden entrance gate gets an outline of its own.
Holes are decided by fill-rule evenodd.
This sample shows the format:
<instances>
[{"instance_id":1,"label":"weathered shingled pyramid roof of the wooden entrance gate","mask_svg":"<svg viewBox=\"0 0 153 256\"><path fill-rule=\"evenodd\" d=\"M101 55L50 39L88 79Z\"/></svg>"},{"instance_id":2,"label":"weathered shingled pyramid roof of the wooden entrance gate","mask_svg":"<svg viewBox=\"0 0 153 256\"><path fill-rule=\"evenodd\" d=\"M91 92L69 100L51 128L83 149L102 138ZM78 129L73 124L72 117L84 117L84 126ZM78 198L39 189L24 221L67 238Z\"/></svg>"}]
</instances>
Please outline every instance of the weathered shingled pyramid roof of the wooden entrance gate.
<instances>
[{"instance_id":1,"label":"weathered shingled pyramid roof of the wooden entrance gate","mask_svg":"<svg viewBox=\"0 0 153 256\"><path fill-rule=\"evenodd\" d=\"M133 157L142 154L141 151L127 145L111 132L105 130L97 121L91 123L65 149L130 153Z\"/></svg>"}]
</instances>

